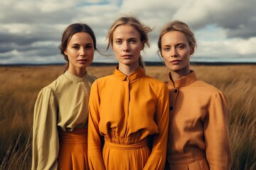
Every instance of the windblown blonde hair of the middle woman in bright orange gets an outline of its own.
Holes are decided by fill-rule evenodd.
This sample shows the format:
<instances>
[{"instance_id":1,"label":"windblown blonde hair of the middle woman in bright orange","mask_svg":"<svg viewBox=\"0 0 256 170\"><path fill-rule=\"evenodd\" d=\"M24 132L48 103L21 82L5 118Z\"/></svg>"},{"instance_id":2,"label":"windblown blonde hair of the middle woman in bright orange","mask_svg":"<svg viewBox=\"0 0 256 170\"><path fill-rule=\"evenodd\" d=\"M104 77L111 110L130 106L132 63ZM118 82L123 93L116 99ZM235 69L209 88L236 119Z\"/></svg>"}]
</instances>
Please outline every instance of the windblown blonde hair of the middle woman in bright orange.
<instances>
[{"instance_id":1,"label":"windblown blonde hair of the middle woman in bright orange","mask_svg":"<svg viewBox=\"0 0 256 170\"><path fill-rule=\"evenodd\" d=\"M114 23L112 24L112 26L110 27L110 29L107 32L107 38L108 39L108 44L107 44L107 50L110 48L110 45L113 45L113 34L114 34L114 30L118 27L118 26L124 26L124 25L129 25L134 27L140 35L140 40L143 43L143 48L144 45L146 44L148 47L149 45L149 38L148 38L148 33L152 30L151 28L149 28L148 26L145 26L144 24L142 24L138 18L135 18L134 16L122 16L120 18L118 18L116 21L114 21ZM142 60L142 56L139 56L139 66L141 66L144 70L145 70L145 64Z\"/></svg>"}]
</instances>

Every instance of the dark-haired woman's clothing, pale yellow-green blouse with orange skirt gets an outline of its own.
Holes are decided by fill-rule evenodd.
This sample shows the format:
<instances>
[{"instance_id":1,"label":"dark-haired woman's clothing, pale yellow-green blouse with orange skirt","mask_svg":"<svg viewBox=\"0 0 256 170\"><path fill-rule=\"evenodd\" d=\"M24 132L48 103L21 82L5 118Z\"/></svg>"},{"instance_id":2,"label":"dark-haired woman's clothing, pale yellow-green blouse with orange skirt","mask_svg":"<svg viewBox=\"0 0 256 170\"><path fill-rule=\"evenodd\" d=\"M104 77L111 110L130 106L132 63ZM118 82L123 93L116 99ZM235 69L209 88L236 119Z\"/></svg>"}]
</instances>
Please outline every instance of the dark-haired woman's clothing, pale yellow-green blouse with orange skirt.
<instances>
[{"instance_id":1,"label":"dark-haired woman's clothing, pale yellow-green blouse with orange skirt","mask_svg":"<svg viewBox=\"0 0 256 170\"><path fill-rule=\"evenodd\" d=\"M66 71L39 92L33 115L32 169L89 169L88 101L95 79Z\"/></svg>"}]
</instances>

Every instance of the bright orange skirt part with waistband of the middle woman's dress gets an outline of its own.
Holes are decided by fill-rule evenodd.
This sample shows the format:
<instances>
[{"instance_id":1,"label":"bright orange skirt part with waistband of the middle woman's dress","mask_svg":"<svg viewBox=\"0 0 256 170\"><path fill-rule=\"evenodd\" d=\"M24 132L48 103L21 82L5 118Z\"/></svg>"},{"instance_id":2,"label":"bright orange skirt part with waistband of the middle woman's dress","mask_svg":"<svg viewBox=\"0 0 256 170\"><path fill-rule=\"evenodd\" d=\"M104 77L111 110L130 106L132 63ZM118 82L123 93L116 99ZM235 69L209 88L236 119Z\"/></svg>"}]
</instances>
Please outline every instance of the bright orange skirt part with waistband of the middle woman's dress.
<instances>
[{"instance_id":1,"label":"bright orange skirt part with waistband of the middle woman's dress","mask_svg":"<svg viewBox=\"0 0 256 170\"><path fill-rule=\"evenodd\" d=\"M146 140L132 145L115 144L105 140L102 158L106 169L140 170L145 166L150 152Z\"/></svg>"}]
</instances>

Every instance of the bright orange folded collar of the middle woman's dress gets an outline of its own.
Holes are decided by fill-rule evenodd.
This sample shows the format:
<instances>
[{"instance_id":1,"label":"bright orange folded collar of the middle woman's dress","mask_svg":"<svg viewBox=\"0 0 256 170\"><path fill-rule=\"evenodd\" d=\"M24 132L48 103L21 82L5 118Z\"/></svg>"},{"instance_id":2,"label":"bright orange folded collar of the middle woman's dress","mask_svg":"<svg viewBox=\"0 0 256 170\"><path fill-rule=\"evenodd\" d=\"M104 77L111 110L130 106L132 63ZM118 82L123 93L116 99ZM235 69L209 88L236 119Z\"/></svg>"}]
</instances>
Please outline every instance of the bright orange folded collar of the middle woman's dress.
<instances>
[{"instance_id":1,"label":"bright orange folded collar of the middle woman's dress","mask_svg":"<svg viewBox=\"0 0 256 170\"><path fill-rule=\"evenodd\" d=\"M140 77L143 77L144 75L145 73L142 67L139 67L139 69L137 69L134 73L132 73L129 76L120 72L118 70L118 66L116 67L116 69L114 69L114 77L117 77L117 79L120 79L121 81L126 81L126 80L133 81L135 79L139 79Z\"/></svg>"}]
</instances>

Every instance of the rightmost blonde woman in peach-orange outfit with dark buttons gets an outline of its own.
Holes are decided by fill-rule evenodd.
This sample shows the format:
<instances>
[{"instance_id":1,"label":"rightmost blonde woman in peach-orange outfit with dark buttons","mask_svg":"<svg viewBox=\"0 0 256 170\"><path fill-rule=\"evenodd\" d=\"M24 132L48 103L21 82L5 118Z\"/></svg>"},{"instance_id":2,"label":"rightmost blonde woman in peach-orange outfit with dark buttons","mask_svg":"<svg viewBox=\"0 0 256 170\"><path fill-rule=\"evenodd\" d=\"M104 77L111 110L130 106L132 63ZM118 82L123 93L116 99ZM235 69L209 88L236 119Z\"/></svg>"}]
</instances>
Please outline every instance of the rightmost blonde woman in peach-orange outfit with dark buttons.
<instances>
[{"instance_id":1,"label":"rightmost blonde woman in peach-orange outfit with dark buttons","mask_svg":"<svg viewBox=\"0 0 256 170\"><path fill-rule=\"evenodd\" d=\"M230 169L230 108L224 94L196 77L190 59L196 48L191 29L167 23L159 52L169 68L170 122L167 169Z\"/></svg>"}]
</instances>

